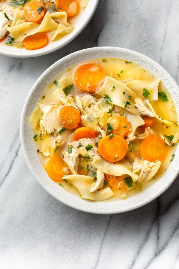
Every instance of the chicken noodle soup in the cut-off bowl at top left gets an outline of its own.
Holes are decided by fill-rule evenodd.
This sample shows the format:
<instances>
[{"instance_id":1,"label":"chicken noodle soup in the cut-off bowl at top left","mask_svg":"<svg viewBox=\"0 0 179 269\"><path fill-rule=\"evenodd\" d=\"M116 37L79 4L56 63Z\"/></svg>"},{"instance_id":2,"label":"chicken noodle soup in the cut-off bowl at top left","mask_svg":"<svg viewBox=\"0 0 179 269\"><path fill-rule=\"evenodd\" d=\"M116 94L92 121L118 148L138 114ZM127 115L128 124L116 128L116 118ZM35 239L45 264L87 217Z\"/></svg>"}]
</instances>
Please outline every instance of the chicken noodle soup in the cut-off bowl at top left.
<instances>
[{"instance_id":1,"label":"chicken noodle soup in the cut-off bowl at top left","mask_svg":"<svg viewBox=\"0 0 179 269\"><path fill-rule=\"evenodd\" d=\"M89 0L0 0L0 44L45 47L74 30Z\"/></svg>"}]
</instances>

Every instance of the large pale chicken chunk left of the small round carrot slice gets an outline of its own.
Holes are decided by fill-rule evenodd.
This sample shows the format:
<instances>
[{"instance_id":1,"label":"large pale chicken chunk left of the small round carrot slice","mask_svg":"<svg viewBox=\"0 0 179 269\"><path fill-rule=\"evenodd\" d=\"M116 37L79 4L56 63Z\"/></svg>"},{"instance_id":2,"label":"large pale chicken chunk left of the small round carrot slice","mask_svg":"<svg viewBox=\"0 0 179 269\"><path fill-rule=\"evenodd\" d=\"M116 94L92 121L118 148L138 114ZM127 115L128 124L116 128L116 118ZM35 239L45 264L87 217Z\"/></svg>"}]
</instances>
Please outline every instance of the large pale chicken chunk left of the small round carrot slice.
<instances>
[{"instance_id":1,"label":"large pale chicken chunk left of the small round carrot slice","mask_svg":"<svg viewBox=\"0 0 179 269\"><path fill-rule=\"evenodd\" d=\"M39 121L42 134L51 134L55 129L59 129L61 125L59 105L44 105L37 103L42 112L42 118Z\"/></svg>"}]
</instances>

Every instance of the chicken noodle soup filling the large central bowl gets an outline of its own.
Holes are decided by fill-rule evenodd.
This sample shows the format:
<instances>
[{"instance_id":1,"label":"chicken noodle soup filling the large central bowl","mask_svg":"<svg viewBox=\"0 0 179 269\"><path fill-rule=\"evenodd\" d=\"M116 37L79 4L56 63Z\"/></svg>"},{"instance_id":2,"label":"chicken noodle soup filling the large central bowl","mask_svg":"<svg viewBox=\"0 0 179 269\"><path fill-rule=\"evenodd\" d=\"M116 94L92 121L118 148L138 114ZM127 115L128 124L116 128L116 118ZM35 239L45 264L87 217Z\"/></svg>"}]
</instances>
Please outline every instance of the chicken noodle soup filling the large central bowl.
<instances>
[{"instance_id":1,"label":"chicken noodle soup filling the large central bowl","mask_svg":"<svg viewBox=\"0 0 179 269\"><path fill-rule=\"evenodd\" d=\"M179 139L173 102L160 78L141 66L80 62L44 90L30 121L37 154L59 187L94 201L126 199L173 160Z\"/></svg>"}]
</instances>

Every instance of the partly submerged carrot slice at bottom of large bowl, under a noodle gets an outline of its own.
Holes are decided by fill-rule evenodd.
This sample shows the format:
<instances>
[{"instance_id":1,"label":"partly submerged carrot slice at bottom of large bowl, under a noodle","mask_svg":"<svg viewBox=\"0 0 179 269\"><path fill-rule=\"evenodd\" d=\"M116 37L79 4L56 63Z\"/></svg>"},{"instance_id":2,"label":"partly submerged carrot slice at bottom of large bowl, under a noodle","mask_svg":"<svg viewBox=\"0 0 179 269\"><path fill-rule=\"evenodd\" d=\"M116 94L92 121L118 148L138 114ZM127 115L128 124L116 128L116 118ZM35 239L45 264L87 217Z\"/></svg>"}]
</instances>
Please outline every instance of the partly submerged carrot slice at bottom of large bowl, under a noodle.
<instances>
[{"instance_id":1,"label":"partly submerged carrot slice at bottom of large bowl, under a noodle","mask_svg":"<svg viewBox=\"0 0 179 269\"><path fill-rule=\"evenodd\" d=\"M125 190L126 183L123 176L113 176L105 174L107 183L113 190Z\"/></svg>"}]
</instances>

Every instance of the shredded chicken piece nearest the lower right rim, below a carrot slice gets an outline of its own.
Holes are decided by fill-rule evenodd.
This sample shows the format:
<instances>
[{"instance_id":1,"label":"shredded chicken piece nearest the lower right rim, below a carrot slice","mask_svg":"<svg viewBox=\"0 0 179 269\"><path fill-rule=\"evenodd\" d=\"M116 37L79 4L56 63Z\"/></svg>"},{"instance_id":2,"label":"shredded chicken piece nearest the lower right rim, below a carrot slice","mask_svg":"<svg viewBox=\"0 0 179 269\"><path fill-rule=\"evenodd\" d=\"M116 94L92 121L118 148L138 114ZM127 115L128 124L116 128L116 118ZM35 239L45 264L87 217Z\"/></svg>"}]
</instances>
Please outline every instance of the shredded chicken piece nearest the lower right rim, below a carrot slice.
<instances>
[{"instance_id":1,"label":"shredded chicken piece nearest the lower right rim, below a carrot slice","mask_svg":"<svg viewBox=\"0 0 179 269\"><path fill-rule=\"evenodd\" d=\"M155 162L150 162L147 160L135 160L132 166L133 173L138 175L139 182L143 181L148 173L152 170L152 167L155 166Z\"/></svg>"}]
</instances>

